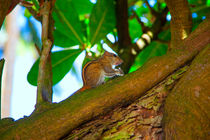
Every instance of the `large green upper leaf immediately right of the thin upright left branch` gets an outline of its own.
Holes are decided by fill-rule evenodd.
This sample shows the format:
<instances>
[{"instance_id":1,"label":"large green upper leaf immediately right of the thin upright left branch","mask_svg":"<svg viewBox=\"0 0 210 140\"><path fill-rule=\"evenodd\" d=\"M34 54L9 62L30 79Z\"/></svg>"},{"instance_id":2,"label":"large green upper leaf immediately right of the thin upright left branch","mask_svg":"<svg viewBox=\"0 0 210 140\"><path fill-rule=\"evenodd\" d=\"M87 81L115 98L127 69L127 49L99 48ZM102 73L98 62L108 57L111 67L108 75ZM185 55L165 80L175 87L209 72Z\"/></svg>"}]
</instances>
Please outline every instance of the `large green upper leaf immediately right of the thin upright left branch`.
<instances>
[{"instance_id":1,"label":"large green upper leaf immediately right of the thin upright left branch","mask_svg":"<svg viewBox=\"0 0 210 140\"><path fill-rule=\"evenodd\" d=\"M61 47L84 44L84 35L72 0L56 0L54 43Z\"/></svg>"}]
</instances>

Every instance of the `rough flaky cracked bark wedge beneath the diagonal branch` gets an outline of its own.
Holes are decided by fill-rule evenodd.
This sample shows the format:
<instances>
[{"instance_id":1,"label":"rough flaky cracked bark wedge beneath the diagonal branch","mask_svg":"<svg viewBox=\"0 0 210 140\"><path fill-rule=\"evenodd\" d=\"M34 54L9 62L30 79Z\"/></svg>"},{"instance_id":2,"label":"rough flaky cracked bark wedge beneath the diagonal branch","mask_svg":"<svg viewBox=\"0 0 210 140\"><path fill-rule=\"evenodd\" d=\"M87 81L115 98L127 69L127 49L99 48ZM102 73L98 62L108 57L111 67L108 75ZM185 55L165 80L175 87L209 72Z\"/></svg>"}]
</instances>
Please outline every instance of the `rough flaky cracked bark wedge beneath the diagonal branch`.
<instances>
[{"instance_id":1,"label":"rough flaky cracked bark wedge beneath the diagonal branch","mask_svg":"<svg viewBox=\"0 0 210 140\"><path fill-rule=\"evenodd\" d=\"M65 140L162 139L163 102L188 66L177 70L146 95L129 105L111 111L73 130Z\"/></svg>"}]
</instances>

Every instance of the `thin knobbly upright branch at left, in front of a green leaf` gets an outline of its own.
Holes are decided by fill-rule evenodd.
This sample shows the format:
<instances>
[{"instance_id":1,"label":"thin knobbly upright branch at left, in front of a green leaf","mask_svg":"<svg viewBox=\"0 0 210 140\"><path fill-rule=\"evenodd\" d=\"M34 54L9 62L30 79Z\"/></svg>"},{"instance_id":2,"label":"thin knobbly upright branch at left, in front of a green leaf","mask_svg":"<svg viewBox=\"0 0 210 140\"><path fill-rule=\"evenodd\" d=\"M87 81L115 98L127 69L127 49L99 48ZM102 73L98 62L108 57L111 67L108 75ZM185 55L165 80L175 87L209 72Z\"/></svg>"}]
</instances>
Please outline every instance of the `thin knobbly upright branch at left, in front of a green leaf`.
<instances>
[{"instance_id":1,"label":"thin knobbly upright branch at left, in front of a green leaf","mask_svg":"<svg viewBox=\"0 0 210 140\"><path fill-rule=\"evenodd\" d=\"M42 51L37 80L37 105L45 101L52 102L52 65L51 65L51 9L52 1L45 1L40 8L42 14Z\"/></svg>"}]
</instances>

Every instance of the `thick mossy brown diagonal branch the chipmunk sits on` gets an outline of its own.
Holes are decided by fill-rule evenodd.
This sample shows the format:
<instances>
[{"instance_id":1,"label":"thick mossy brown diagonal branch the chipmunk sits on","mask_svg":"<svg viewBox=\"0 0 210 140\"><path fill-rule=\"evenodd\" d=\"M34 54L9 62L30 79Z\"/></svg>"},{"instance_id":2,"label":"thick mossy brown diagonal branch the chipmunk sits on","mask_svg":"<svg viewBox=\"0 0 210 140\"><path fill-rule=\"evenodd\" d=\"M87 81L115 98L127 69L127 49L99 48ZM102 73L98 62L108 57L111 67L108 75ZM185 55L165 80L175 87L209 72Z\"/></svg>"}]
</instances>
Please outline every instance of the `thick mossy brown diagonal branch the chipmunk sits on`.
<instances>
[{"instance_id":1,"label":"thick mossy brown diagonal branch the chipmunk sits on","mask_svg":"<svg viewBox=\"0 0 210 140\"><path fill-rule=\"evenodd\" d=\"M59 139L88 120L115 107L128 105L190 61L210 42L209 36L210 24L206 19L183 42L182 45L187 47L180 48L184 49L151 59L136 72L73 95L45 112L11 123L0 130L1 139Z\"/></svg>"}]
</instances>

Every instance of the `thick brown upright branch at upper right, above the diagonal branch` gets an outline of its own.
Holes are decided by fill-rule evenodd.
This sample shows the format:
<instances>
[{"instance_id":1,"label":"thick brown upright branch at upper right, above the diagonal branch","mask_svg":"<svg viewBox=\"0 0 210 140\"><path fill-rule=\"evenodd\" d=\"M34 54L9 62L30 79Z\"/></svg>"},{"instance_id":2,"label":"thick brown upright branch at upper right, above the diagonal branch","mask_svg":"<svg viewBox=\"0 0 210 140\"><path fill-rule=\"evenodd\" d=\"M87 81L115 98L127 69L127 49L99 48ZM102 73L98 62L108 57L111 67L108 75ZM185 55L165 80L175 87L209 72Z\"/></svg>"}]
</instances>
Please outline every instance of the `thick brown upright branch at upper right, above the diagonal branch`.
<instances>
[{"instance_id":1,"label":"thick brown upright branch at upper right, above the diagonal branch","mask_svg":"<svg viewBox=\"0 0 210 140\"><path fill-rule=\"evenodd\" d=\"M192 28L192 16L187 0L166 0L171 13L171 48L179 46Z\"/></svg>"}]
</instances>

